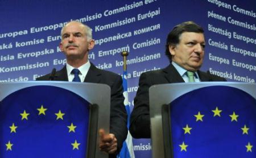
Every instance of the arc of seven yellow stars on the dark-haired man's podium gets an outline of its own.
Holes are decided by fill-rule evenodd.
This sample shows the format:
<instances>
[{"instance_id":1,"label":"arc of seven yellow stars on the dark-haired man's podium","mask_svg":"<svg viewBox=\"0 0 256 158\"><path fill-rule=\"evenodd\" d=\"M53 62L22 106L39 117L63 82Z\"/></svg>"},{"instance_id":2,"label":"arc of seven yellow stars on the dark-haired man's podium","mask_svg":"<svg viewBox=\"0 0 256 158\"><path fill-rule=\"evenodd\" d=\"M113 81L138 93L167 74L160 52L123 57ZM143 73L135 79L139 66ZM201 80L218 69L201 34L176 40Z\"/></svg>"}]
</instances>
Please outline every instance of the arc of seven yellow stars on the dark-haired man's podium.
<instances>
[{"instance_id":1,"label":"arc of seven yellow stars on the dark-haired man's podium","mask_svg":"<svg viewBox=\"0 0 256 158\"><path fill-rule=\"evenodd\" d=\"M218 107L216 107L215 110L212 110L213 112L213 117L221 117L221 112L222 110L219 110ZM196 122L203 122L203 118L204 118L204 115L200 113L200 111L194 115L194 117L196 118ZM230 119L231 119L231 122L238 122L238 117L239 115L237 115L234 111L233 111L233 114L230 114L229 115ZM246 124L241 128L242 130L242 134L246 134L246 135L249 135L249 129L248 127L246 127ZM191 134L191 130L192 130L192 127L189 127L188 124L186 124L185 127L183 127L183 130L184 130L184 134ZM187 147L188 147L188 144L185 144L184 142L182 142L182 144L179 145L180 146L180 151L185 151L187 152ZM246 152L253 152L253 145L250 144L250 142L247 143L247 145L245 145L246 147Z\"/></svg>"}]
</instances>

